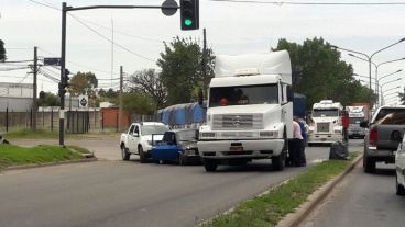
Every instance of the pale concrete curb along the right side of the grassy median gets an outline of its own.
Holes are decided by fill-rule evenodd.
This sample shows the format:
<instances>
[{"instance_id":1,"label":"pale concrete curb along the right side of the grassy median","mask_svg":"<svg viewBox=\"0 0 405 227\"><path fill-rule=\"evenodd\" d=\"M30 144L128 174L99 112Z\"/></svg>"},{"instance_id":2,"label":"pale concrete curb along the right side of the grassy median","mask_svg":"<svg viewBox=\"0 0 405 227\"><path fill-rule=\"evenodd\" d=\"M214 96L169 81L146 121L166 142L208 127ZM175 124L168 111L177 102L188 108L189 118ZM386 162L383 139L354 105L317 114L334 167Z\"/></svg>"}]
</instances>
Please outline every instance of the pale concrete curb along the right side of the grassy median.
<instances>
[{"instance_id":1,"label":"pale concrete curb along the right side of the grassy median","mask_svg":"<svg viewBox=\"0 0 405 227\"><path fill-rule=\"evenodd\" d=\"M349 172L351 172L355 164L360 162L363 155L357 157L348 169L341 174L330 180L328 183L322 185L320 189L310 194L307 202L300 205L294 213L286 215L276 227L296 227L298 226L335 189L335 186L340 183Z\"/></svg>"}]
</instances>

